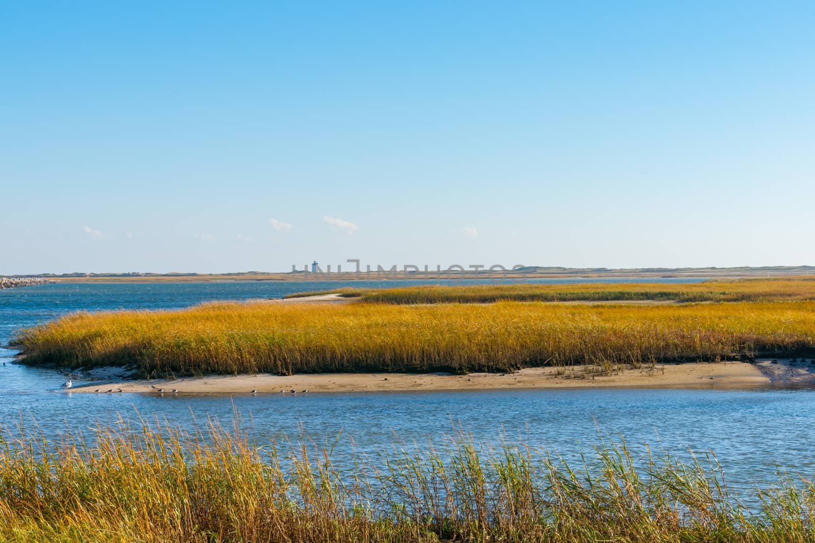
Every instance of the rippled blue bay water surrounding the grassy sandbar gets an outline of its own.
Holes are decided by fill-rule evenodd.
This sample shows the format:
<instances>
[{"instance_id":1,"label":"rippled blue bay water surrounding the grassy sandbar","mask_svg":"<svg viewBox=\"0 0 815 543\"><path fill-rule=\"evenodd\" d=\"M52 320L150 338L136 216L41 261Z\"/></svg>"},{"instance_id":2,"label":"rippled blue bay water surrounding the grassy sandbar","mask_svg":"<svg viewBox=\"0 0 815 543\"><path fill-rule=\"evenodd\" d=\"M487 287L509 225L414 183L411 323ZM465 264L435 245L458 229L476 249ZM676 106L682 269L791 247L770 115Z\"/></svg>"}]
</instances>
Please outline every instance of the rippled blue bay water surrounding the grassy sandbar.
<instances>
[{"instance_id":1,"label":"rippled blue bay water surrounding the grassy sandbar","mask_svg":"<svg viewBox=\"0 0 815 543\"><path fill-rule=\"evenodd\" d=\"M669 280L661 280L668 282ZM574 281L570 281L574 282ZM608 282L608 280L604 280ZM672 281L673 282L673 281ZM421 282L388 282L386 285ZM280 297L334 286L381 287L381 282L235 282L181 284L51 284L0 291L0 344L15 329L76 310L180 308L205 300ZM566 459L601 439L624 436L635 453L713 450L737 488L770 484L776 466L815 476L815 394L809 389L576 389L481 392L365 392L297 396L88 395L54 392L55 370L11 363L0 349L0 421L37 424L48 436L70 427L87 431L117 417L167 418L182 427L241 415L259 443L296 438L305 429L318 442L337 440L337 454L375 454L403 440L440 444L457 427L475 440L524 440ZM398 436L398 437L397 437Z\"/></svg>"}]
</instances>

